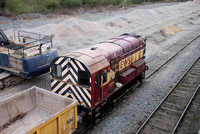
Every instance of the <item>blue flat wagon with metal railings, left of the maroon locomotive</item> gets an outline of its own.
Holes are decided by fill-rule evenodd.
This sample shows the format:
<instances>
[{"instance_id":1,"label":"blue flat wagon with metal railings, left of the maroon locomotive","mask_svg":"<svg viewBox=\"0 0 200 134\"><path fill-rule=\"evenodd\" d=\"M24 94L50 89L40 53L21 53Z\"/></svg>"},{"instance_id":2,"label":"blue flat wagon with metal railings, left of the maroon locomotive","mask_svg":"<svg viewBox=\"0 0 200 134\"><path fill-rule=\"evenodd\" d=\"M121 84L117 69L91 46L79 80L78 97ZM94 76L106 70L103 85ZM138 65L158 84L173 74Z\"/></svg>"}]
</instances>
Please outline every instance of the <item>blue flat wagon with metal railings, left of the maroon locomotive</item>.
<instances>
[{"instance_id":1,"label":"blue flat wagon with metal railings, left of the maroon locomotive","mask_svg":"<svg viewBox=\"0 0 200 134\"><path fill-rule=\"evenodd\" d=\"M58 56L53 35L14 31L10 38L0 30L0 89L49 72L50 62Z\"/></svg>"}]
</instances>

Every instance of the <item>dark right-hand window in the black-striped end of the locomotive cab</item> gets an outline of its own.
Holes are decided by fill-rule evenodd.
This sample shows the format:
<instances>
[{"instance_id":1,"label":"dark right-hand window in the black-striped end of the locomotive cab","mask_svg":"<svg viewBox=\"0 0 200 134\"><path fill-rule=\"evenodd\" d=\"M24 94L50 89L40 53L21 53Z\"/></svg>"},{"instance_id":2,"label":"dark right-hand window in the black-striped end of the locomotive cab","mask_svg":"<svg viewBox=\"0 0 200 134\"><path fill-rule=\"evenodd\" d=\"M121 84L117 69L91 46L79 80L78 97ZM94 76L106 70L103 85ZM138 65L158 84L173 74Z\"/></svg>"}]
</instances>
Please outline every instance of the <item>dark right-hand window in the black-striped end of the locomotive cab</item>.
<instances>
[{"instance_id":1,"label":"dark right-hand window in the black-striped end of the locomotive cab","mask_svg":"<svg viewBox=\"0 0 200 134\"><path fill-rule=\"evenodd\" d=\"M80 85L89 86L89 74L86 71L78 71L78 83Z\"/></svg>"}]
</instances>

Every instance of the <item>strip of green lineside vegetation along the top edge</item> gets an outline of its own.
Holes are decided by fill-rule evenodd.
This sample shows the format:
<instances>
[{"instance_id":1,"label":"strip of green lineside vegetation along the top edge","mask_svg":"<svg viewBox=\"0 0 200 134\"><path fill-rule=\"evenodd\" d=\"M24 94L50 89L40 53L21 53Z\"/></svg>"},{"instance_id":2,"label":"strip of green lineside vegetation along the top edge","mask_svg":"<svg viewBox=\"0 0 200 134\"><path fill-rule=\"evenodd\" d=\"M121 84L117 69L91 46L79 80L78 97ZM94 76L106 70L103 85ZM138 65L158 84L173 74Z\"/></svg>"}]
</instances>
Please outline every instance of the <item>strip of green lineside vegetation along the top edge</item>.
<instances>
[{"instance_id":1,"label":"strip of green lineside vegetation along the top edge","mask_svg":"<svg viewBox=\"0 0 200 134\"><path fill-rule=\"evenodd\" d=\"M185 0L0 0L0 13L22 14L45 12L80 7L94 8L97 6L114 5L125 7L143 2L171 2Z\"/></svg>"}]
</instances>

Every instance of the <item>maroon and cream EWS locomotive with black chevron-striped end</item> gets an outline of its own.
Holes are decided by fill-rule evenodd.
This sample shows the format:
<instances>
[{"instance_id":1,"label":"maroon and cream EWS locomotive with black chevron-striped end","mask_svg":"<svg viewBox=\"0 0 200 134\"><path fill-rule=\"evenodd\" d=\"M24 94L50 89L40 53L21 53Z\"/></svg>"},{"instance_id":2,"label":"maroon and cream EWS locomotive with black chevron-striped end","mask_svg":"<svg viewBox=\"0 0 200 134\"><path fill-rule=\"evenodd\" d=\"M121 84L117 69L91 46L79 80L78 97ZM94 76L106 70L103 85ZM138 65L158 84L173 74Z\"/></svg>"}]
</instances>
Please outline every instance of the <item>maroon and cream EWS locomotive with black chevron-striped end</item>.
<instances>
[{"instance_id":1,"label":"maroon and cream EWS locomotive with black chevron-striped end","mask_svg":"<svg viewBox=\"0 0 200 134\"><path fill-rule=\"evenodd\" d=\"M79 115L93 119L128 83L142 81L145 49L146 38L128 33L57 57L50 67L52 92L78 100Z\"/></svg>"}]
</instances>

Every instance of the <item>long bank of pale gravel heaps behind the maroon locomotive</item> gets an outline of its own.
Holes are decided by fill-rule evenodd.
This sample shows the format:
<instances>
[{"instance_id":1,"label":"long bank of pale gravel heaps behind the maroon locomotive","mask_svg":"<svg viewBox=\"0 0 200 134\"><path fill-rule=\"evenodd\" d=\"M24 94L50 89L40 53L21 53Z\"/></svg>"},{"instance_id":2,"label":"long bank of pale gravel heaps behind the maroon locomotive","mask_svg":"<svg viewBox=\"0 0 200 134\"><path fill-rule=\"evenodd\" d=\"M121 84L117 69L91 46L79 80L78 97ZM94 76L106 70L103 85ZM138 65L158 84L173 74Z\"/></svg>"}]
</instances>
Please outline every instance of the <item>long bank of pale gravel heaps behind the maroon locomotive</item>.
<instances>
[{"instance_id":1,"label":"long bank of pale gravel heaps behind the maroon locomotive","mask_svg":"<svg viewBox=\"0 0 200 134\"><path fill-rule=\"evenodd\" d=\"M55 34L53 39L54 45L58 48L59 54L62 55L71 50L85 48L107 40L109 37L115 37L127 32L135 32L147 36L155 34L151 40L158 44L165 41L166 37L168 37L163 32L164 27L174 23L175 20L188 19L189 16L192 17L192 13L199 11L199 5L196 3L199 4L199 2L185 2L150 9L130 8L122 12L105 13L106 15L113 14L113 16L106 17L106 19L102 17L104 14L94 14L93 16L102 18L96 21L93 19L87 20L83 16L81 18L58 16L55 19L48 19L44 15L28 14L27 16L18 16L14 23L16 25L21 23L22 25L19 25L19 28L26 31ZM32 20L31 18L35 19ZM27 23L27 20L30 22ZM35 26L39 22L44 23L44 20L46 20L45 24ZM5 21L5 23L7 22ZM12 26L10 26L8 31L5 31L6 34L12 35L11 31L16 29L14 23L7 24L12 24ZM3 28L7 25L2 25L1 27ZM29 28L26 25L30 25ZM161 27L161 31L158 30L158 26Z\"/></svg>"}]
</instances>

